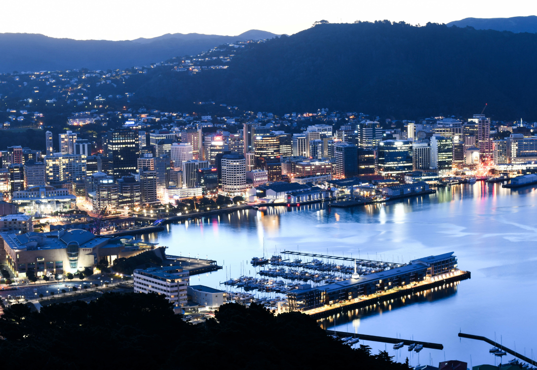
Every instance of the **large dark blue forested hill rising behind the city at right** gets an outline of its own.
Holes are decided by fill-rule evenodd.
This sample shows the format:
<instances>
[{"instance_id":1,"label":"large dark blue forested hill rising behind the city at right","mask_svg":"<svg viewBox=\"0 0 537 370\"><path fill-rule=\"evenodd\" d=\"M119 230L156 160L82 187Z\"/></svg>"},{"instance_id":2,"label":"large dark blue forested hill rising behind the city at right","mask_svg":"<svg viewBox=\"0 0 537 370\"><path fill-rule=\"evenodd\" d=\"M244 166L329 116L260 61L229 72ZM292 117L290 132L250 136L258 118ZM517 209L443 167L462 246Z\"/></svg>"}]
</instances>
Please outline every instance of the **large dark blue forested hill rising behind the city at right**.
<instances>
[{"instance_id":1,"label":"large dark blue forested hill rising behind the city at right","mask_svg":"<svg viewBox=\"0 0 537 370\"><path fill-rule=\"evenodd\" d=\"M282 113L537 119L537 34L388 21L321 24L238 53L227 70L147 76L137 99L214 100ZM134 81L133 81L134 82Z\"/></svg>"}]
</instances>

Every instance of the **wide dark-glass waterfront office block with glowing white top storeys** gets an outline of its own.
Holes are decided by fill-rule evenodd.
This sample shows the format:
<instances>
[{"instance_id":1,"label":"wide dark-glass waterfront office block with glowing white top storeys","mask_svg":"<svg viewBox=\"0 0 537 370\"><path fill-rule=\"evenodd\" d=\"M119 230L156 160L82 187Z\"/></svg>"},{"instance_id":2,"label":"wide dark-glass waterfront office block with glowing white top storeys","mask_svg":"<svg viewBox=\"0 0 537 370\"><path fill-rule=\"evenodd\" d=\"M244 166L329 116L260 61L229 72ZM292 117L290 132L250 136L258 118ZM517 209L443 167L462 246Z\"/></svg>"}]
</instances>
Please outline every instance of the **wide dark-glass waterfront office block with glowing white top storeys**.
<instances>
[{"instance_id":1,"label":"wide dark-glass waterfront office block with glowing white top storeys","mask_svg":"<svg viewBox=\"0 0 537 370\"><path fill-rule=\"evenodd\" d=\"M412 171L412 144L410 141L385 140L379 143L379 175L395 176L398 173L410 171Z\"/></svg>"}]
</instances>

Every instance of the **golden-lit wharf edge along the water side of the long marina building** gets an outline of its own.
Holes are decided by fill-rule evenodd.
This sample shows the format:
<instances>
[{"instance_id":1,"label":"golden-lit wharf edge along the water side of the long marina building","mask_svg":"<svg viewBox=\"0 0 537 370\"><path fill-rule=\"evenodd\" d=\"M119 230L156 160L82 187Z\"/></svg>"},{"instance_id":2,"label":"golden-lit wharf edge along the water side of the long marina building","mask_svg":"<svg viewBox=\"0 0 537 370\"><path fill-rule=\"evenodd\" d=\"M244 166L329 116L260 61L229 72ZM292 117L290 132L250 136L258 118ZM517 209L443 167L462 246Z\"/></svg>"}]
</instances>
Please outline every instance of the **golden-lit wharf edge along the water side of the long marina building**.
<instances>
[{"instance_id":1,"label":"golden-lit wharf edge along the water side of the long marina building","mask_svg":"<svg viewBox=\"0 0 537 370\"><path fill-rule=\"evenodd\" d=\"M396 288L392 289L389 293L373 294L359 300L358 302L349 302L349 303L336 303L329 307L320 307L314 308L312 310L303 311L304 314L308 314L315 318L324 318L334 314L343 313L345 310L350 309L359 309L369 306L377 306L382 303L392 299L403 298L405 296L410 296L428 289L433 289L437 287L443 287L447 284L457 284L461 280L466 280L471 278L470 271L460 271L460 273L447 277L445 279L431 281L431 282L420 282L420 284L413 285L408 288Z\"/></svg>"}]
</instances>

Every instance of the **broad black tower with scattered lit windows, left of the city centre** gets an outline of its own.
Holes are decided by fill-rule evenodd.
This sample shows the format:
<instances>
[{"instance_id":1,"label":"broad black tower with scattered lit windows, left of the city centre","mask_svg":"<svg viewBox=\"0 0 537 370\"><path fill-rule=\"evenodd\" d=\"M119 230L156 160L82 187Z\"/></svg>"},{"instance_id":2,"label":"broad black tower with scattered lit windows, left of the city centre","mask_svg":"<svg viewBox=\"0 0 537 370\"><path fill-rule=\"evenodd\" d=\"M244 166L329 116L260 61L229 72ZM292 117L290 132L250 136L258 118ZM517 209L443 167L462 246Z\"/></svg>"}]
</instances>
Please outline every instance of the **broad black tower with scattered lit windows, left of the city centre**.
<instances>
[{"instance_id":1,"label":"broad black tower with scattered lit windows, left of the city centre","mask_svg":"<svg viewBox=\"0 0 537 370\"><path fill-rule=\"evenodd\" d=\"M139 157L138 135L130 129L118 129L107 133L108 158L114 178L129 176L136 170Z\"/></svg>"}]
</instances>

